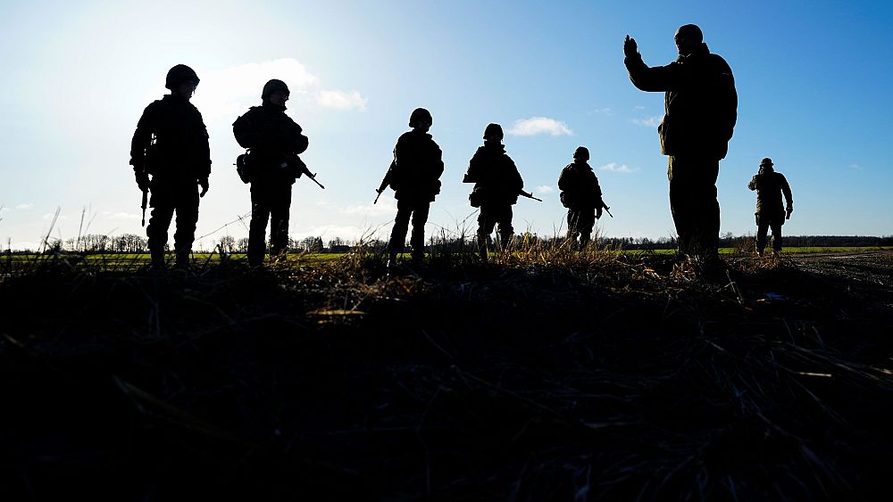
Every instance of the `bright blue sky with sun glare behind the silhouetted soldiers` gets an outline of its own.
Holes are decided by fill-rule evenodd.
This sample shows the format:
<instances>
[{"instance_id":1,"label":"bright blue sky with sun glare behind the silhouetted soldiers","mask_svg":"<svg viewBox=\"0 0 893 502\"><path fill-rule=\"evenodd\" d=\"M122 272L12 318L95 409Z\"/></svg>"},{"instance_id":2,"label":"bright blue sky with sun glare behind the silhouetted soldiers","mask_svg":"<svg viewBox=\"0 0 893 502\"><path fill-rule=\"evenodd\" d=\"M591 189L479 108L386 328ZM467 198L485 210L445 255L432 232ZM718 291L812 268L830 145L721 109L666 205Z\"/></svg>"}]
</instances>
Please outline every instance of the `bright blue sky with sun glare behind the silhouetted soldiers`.
<instances>
[{"instance_id":1,"label":"bright blue sky with sun glare behind the silhouetted soldiers","mask_svg":"<svg viewBox=\"0 0 893 502\"><path fill-rule=\"evenodd\" d=\"M128 166L140 113L164 75L202 78L193 103L211 134L211 191L197 235L211 247L246 236L250 210L232 162L231 123L263 83L292 88L302 157L326 185L298 180L289 233L353 240L386 235L388 191L372 206L414 108L434 116L443 191L429 235L472 228L461 183L489 122L503 125L526 189L515 228L563 232L556 189L585 145L615 218L604 235L674 234L656 123L663 95L630 84L623 37L649 65L675 56L673 33L696 23L735 73L739 122L718 182L722 233L752 234L747 181L763 157L789 179L789 235L891 235L893 3L890 2L17 2L0 3L0 239L36 248L53 236L143 235ZM464 223L463 223L464 222ZM211 235L209 235L211 234Z\"/></svg>"}]
</instances>

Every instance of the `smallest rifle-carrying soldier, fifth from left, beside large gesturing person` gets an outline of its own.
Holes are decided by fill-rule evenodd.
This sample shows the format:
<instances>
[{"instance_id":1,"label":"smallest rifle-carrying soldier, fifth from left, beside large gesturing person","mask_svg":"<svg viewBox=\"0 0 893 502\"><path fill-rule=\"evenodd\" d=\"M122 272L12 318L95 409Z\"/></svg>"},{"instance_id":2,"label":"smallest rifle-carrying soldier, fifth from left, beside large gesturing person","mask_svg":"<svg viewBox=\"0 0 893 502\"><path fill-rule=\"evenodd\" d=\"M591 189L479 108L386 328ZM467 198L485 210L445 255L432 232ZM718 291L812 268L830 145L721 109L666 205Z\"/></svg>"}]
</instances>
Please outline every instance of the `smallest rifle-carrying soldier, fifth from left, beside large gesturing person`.
<instances>
[{"instance_id":1,"label":"smallest rifle-carrying soldier, fifth from left, beside large gesturing person","mask_svg":"<svg viewBox=\"0 0 893 502\"><path fill-rule=\"evenodd\" d=\"M573 152L573 162L562 169L558 177L558 189L562 191L561 202L567 208L567 238L585 248L592 235L592 227L602 217L602 189L598 186L596 173L587 162L589 151L580 146Z\"/></svg>"}]
</instances>

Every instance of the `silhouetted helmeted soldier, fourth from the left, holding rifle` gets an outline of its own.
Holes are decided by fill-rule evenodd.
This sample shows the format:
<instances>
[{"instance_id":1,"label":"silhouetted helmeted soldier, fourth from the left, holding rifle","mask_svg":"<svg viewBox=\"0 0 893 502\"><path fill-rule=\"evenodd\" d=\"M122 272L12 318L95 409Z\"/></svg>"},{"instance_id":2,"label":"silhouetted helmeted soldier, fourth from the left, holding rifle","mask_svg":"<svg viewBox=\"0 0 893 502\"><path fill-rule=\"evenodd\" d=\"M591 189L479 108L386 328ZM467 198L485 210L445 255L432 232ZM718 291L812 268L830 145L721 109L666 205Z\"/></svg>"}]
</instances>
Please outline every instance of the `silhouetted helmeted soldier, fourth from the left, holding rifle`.
<instances>
[{"instance_id":1,"label":"silhouetted helmeted soldier, fourth from the left, holding rifle","mask_svg":"<svg viewBox=\"0 0 893 502\"><path fill-rule=\"evenodd\" d=\"M524 188L521 173L505 153L502 127L489 124L484 129L484 145L474 152L463 183L473 183L469 195L472 207L480 208L478 215L478 252L487 260L487 240L497 224L498 246L507 247L512 241L512 206Z\"/></svg>"}]
</instances>

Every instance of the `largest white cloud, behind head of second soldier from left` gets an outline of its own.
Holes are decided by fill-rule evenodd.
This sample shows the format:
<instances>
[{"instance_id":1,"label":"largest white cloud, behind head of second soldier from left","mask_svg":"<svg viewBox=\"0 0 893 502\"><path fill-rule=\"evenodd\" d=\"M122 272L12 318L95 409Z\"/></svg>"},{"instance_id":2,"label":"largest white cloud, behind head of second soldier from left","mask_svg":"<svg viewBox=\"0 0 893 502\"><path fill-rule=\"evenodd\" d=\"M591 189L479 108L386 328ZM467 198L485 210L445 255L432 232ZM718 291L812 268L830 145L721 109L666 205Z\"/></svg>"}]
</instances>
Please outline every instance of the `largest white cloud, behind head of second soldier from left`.
<instances>
[{"instance_id":1,"label":"largest white cloud, behind head of second soldier from left","mask_svg":"<svg viewBox=\"0 0 893 502\"><path fill-rule=\"evenodd\" d=\"M288 85L291 102L315 103L340 110L365 110L366 99L359 91L339 91L322 87L321 79L294 58L249 62L225 70L205 71L193 103L205 122L235 119L249 106L261 103L263 85L278 78Z\"/></svg>"}]
</instances>

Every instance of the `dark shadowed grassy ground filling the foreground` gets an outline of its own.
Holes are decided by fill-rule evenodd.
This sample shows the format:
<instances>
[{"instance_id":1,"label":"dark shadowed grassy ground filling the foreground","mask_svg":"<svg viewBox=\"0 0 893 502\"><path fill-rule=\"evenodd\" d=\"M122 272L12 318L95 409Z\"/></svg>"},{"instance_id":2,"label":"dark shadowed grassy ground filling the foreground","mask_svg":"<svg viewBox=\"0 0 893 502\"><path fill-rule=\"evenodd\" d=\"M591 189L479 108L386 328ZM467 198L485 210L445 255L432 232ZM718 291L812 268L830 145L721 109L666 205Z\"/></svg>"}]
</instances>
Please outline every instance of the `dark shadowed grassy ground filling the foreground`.
<instances>
[{"instance_id":1,"label":"dark shadowed grassy ground filling the foreground","mask_svg":"<svg viewBox=\"0 0 893 502\"><path fill-rule=\"evenodd\" d=\"M453 261L451 261L453 260ZM893 259L59 261L0 282L0 498L822 500L889 488Z\"/></svg>"}]
</instances>

